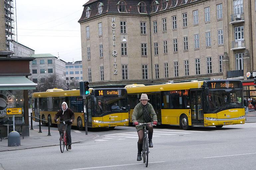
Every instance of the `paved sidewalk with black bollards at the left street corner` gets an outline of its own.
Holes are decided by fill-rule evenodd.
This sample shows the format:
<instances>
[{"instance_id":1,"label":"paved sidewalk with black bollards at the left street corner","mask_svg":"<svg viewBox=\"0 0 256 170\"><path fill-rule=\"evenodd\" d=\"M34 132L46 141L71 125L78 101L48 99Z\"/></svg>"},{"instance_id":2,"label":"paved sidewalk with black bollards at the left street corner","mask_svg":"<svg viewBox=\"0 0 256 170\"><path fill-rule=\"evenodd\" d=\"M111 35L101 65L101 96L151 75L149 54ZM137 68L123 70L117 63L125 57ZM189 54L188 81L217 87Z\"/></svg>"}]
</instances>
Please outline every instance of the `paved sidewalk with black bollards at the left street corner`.
<instances>
[{"instance_id":1,"label":"paved sidewalk with black bollards at the left street corner","mask_svg":"<svg viewBox=\"0 0 256 170\"><path fill-rule=\"evenodd\" d=\"M8 139L3 139L0 142L0 152L9 150L19 150L19 149L30 149L36 147L47 147L56 146L60 144L60 134L58 128L51 128L51 136L48 135L48 128L42 127L42 133L38 133L39 126L33 126L34 130L29 130L29 137L21 137L21 146L8 147ZM85 131L76 131L71 129L72 144L87 141L99 137L98 135L88 134L85 135Z\"/></svg>"}]
</instances>

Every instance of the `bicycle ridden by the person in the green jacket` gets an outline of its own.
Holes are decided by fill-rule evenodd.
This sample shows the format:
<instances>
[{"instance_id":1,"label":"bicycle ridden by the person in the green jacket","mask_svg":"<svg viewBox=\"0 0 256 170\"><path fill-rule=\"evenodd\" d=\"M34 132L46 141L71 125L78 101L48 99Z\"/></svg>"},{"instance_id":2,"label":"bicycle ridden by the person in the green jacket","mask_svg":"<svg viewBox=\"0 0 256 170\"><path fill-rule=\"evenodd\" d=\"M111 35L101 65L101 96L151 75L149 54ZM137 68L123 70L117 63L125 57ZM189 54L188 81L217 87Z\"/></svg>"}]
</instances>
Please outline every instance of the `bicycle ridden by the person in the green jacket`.
<instances>
[{"instance_id":1,"label":"bicycle ridden by the person in the green jacket","mask_svg":"<svg viewBox=\"0 0 256 170\"><path fill-rule=\"evenodd\" d=\"M143 135L143 144L142 144L142 154L141 156L143 157L143 163L145 163L145 166L148 167L148 153L149 153L149 144L148 144L148 131L145 128L148 124L154 125L153 123L139 123L140 126L143 126L143 131L144 131L144 135Z\"/></svg>"}]
</instances>

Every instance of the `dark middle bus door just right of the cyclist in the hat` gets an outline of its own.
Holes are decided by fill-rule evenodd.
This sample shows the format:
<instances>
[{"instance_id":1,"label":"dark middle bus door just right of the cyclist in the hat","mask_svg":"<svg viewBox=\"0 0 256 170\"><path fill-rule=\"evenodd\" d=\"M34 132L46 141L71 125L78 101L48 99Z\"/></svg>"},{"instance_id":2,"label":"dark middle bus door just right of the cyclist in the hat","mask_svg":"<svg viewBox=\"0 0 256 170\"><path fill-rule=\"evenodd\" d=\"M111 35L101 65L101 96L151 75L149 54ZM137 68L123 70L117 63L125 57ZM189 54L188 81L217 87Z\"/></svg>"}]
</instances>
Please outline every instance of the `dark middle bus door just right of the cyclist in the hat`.
<instances>
[{"instance_id":1,"label":"dark middle bus door just right of the cyclist in the hat","mask_svg":"<svg viewBox=\"0 0 256 170\"><path fill-rule=\"evenodd\" d=\"M149 103L152 104L152 106L157 114L157 123L162 123L162 120L161 120L161 93L160 92L151 93L151 101L149 101Z\"/></svg>"}]
</instances>

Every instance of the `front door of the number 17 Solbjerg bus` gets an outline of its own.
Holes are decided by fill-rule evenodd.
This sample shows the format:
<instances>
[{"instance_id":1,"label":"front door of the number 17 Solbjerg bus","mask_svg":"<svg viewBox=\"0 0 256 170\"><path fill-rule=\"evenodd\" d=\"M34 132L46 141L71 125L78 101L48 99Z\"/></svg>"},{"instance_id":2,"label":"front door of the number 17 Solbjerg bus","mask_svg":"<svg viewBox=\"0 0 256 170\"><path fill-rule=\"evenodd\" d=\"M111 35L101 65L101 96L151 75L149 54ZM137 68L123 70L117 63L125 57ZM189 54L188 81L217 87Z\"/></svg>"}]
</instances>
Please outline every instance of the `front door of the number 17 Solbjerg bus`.
<instances>
[{"instance_id":1,"label":"front door of the number 17 Solbjerg bus","mask_svg":"<svg viewBox=\"0 0 256 170\"><path fill-rule=\"evenodd\" d=\"M203 125L202 89L190 90L192 125Z\"/></svg>"}]
</instances>

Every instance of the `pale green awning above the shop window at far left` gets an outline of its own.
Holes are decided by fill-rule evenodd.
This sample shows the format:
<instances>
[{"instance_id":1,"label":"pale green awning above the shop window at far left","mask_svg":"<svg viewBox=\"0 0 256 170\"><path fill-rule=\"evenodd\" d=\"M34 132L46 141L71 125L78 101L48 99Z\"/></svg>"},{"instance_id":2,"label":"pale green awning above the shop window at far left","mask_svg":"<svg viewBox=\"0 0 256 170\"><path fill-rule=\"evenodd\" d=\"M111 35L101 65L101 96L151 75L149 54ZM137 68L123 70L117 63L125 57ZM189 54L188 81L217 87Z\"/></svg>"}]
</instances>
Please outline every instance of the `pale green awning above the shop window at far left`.
<instances>
[{"instance_id":1,"label":"pale green awning above the shop window at far left","mask_svg":"<svg viewBox=\"0 0 256 170\"><path fill-rule=\"evenodd\" d=\"M0 90L33 90L36 86L25 76L0 77Z\"/></svg>"}]
</instances>

